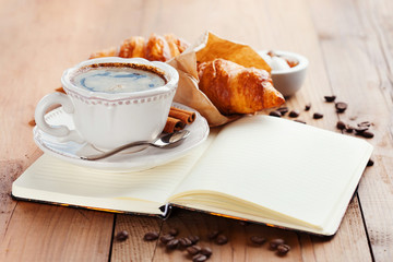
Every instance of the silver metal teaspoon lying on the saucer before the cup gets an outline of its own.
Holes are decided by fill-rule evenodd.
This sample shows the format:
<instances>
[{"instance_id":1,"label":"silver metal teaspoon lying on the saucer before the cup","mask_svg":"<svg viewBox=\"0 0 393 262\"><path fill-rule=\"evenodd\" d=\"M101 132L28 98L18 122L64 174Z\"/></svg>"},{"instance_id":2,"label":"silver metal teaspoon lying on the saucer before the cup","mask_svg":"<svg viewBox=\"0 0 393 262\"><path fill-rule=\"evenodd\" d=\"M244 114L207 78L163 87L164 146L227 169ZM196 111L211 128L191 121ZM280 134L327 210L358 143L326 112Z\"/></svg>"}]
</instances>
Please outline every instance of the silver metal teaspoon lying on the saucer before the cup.
<instances>
[{"instance_id":1,"label":"silver metal teaspoon lying on the saucer before the cup","mask_svg":"<svg viewBox=\"0 0 393 262\"><path fill-rule=\"evenodd\" d=\"M80 156L80 158L83 159L83 160L98 160L98 159L103 159L105 157L115 155L115 154L117 154L117 153L119 153L121 151L124 151L127 148L138 146L138 145L144 145L144 144L162 148L162 147L166 147L168 145L172 145L175 143L178 143L178 142L182 141L183 139L186 139L189 135L190 135L190 131L180 130L180 131L176 131L176 132L172 132L172 133L165 134L165 135L163 135L160 138L157 138L156 140L154 140L152 142L148 142L148 141L132 142L132 143L121 145L121 146L119 146L119 147L117 147L115 150L111 150L111 151L108 151L108 152L105 152L105 153L102 153L102 154L91 155L91 156Z\"/></svg>"}]
</instances>

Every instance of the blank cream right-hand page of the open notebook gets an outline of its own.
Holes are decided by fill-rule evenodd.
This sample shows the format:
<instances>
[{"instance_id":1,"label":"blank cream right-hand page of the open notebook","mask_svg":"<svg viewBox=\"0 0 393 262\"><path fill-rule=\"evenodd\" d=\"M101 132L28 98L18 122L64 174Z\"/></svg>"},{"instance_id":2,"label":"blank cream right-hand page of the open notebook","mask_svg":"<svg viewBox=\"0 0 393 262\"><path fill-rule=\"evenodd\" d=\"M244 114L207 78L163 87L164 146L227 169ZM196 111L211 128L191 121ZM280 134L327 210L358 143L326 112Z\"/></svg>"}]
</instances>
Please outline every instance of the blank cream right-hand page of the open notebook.
<instances>
[{"instance_id":1,"label":"blank cream right-hand page of the open notebook","mask_svg":"<svg viewBox=\"0 0 393 262\"><path fill-rule=\"evenodd\" d=\"M217 191L323 226L349 183L356 188L354 176L360 178L371 151L348 135L279 118L246 117L218 133L176 193Z\"/></svg>"}]
</instances>

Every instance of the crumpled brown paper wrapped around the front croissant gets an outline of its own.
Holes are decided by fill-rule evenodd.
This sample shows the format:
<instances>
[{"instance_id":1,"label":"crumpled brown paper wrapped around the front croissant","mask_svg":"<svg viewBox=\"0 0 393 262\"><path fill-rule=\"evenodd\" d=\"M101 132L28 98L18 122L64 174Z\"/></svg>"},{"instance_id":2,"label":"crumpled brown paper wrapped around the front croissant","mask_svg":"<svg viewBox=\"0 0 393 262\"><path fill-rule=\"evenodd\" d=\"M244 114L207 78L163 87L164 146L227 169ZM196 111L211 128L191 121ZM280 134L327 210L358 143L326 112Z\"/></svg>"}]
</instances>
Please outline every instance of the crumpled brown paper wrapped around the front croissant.
<instances>
[{"instance_id":1,"label":"crumpled brown paper wrapped around the front croissant","mask_svg":"<svg viewBox=\"0 0 393 262\"><path fill-rule=\"evenodd\" d=\"M218 127L241 117L222 115L199 90L196 62L206 62L215 58L223 58L247 68L271 71L269 64L251 47L219 38L211 32L206 32L184 52L168 61L179 72L179 85L174 100L198 110L206 118L210 127Z\"/></svg>"}]
</instances>

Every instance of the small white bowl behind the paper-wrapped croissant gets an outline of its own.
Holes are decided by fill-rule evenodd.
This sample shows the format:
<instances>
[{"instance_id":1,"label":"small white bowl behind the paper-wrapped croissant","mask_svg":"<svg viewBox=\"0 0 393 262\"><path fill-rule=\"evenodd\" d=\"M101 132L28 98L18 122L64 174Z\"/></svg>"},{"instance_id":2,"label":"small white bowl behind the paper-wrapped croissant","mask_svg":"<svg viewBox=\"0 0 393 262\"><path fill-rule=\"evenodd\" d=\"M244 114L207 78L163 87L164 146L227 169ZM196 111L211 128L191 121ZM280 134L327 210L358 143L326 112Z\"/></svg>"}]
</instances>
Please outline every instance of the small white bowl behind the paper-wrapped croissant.
<instances>
[{"instance_id":1,"label":"small white bowl behind the paper-wrapped croissant","mask_svg":"<svg viewBox=\"0 0 393 262\"><path fill-rule=\"evenodd\" d=\"M293 68L272 70L271 72L274 87L285 97L289 97L300 90L306 78L309 61L306 57L299 53L278 50L273 51L278 56L293 58L299 62ZM258 53L263 58L266 56L267 51L259 51ZM266 62L269 63L269 61Z\"/></svg>"}]
</instances>

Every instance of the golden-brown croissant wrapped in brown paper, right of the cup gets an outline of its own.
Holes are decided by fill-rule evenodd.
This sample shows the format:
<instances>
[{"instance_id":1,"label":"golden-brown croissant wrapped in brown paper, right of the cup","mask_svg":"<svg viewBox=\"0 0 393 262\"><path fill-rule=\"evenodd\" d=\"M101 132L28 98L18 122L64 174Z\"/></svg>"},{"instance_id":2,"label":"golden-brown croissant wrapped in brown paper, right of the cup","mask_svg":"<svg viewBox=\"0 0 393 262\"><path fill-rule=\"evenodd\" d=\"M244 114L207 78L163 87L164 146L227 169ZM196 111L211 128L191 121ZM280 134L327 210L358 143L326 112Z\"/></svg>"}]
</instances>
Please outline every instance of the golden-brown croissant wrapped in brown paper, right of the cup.
<instances>
[{"instance_id":1,"label":"golden-brown croissant wrapped in brown paper, right of the cup","mask_svg":"<svg viewBox=\"0 0 393 262\"><path fill-rule=\"evenodd\" d=\"M215 59L198 66L199 87L223 115L253 114L282 105L267 71Z\"/></svg>"}]
</instances>

